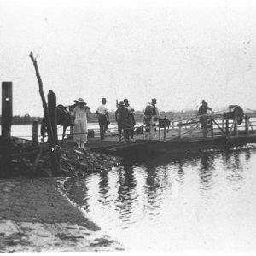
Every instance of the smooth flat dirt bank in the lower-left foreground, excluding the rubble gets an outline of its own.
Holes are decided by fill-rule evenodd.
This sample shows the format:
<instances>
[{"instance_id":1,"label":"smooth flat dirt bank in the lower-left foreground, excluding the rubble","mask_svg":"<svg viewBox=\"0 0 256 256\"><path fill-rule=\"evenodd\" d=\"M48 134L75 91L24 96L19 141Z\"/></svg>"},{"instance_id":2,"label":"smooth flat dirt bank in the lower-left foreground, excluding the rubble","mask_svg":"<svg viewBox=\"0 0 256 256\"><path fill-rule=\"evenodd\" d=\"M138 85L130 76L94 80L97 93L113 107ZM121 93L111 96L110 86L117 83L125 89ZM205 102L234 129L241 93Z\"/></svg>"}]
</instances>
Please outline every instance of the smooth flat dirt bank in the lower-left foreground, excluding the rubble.
<instances>
[{"instance_id":1,"label":"smooth flat dirt bank in the lower-left foreground, excluding the rubble","mask_svg":"<svg viewBox=\"0 0 256 256\"><path fill-rule=\"evenodd\" d=\"M0 192L0 253L123 249L61 195L56 178L0 180Z\"/></svg>"}]
</instances>

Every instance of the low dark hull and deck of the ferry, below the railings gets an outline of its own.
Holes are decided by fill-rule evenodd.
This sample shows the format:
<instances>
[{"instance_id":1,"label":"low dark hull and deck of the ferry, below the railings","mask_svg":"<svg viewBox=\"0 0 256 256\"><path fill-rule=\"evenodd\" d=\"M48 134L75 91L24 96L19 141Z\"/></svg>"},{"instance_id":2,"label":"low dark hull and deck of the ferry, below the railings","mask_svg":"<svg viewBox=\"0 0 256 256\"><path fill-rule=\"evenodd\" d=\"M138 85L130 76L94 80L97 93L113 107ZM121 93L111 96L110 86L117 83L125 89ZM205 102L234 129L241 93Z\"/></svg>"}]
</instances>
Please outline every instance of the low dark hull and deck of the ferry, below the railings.
<instances>
[{"instance_id":1,"label":"low dark hull and deck of the ferry, below the railings","mask_svg":"<svg viewBox=\"0 0 256 256\"><path fill-rule=\"evenodd\" d=\"M207 137L202 129L197 128L193 131L183 129L183 135L180 137L179 129L170 129L166 132L164 129L157 128L153 137L143 131L143 134L135 134L130 142L119 142L116 134L108 134L103 141L99 137L93 137L88 140L85 147L89 150L108 153L108 154L143 154L150 152L160 154L181 154L184 152L195 152L207 149L230 148L244 145L247 143L256 143L256 133L249 131L238 131L238 134L224 135L221 131L215 131L214 136L208 131Z\"/></svg>"}]
</instances>

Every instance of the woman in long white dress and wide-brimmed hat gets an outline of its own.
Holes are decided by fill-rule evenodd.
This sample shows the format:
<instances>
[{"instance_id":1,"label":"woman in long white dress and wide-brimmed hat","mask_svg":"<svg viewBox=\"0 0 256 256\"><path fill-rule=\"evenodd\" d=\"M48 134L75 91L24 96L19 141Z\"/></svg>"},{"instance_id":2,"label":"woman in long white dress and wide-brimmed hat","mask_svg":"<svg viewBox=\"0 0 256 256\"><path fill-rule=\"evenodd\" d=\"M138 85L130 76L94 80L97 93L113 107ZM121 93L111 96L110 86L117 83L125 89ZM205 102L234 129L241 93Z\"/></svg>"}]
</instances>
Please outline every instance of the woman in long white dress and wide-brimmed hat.
<instances>
[{"instance_id":1,"label":"woman in long white dress and wide-brimmed hat","mask_svg":"<svg viewBox=\"0 0 256 256\"><path fill-rule=\"evenodd\" d=\"M73 109L73 142L78 144L78 148L84 149L84 143L87 143L87 117L90 108L85 106L86 102L82 98L74 101L76 107Z\"/></svg>"}]
</instances>

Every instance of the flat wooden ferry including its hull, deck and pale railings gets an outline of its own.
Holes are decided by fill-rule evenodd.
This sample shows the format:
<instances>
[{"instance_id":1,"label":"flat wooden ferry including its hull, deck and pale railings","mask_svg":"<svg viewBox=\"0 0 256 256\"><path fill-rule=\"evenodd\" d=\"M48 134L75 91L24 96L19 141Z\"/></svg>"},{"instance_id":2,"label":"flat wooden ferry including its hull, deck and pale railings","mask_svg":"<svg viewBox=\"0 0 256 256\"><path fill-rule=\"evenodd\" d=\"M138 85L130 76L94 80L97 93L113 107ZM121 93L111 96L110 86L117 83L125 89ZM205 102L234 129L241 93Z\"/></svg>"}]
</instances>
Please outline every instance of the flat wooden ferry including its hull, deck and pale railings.
<instances>
[{"instance_id":1,"label":"flat wooden ferry including its hull, deck and pale railings","mask_svg":"<svg viewBox=\"0 0 256 256\"><path fill-rule=\"evenodd\" d=\"M235 105L236 106L236 105ZM99 137L89 139L87 148L108 154L183 154L217 148L234 148L247 143L256 143L256 113L227 115L226 113L172 120L170 126L142 125L140 134L131 142L119 142L116 134L109 134L104 141ZM253 120L255 119L255 121ZM206 125L207 124L207 125Z\"/></svg>"}]
</instances>

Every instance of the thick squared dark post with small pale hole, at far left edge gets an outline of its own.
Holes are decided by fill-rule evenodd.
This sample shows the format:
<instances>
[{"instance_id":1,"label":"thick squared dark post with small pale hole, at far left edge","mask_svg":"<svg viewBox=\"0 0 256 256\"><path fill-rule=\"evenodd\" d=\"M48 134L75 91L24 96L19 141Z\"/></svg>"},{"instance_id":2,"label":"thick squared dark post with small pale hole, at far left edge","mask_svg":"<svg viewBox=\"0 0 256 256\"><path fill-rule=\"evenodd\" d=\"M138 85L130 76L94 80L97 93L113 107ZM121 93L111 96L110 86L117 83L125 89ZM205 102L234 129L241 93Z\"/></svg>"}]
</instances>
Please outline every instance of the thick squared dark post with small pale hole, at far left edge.
<instances>
[{"instance_id":1,"label":"thick squared dark post with small pale hole, at far left edge","mask_svg":"<svg viewBox=\"0 0 256 256\"><path fill-rule=\"evenodd\" d=\"M13 118L13 84L12 82L2 83L2 166L1 177L11 177L11 125Z\"/></svg>"}]
</instances>

